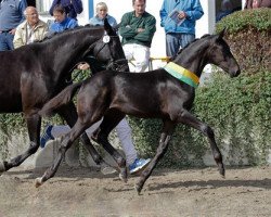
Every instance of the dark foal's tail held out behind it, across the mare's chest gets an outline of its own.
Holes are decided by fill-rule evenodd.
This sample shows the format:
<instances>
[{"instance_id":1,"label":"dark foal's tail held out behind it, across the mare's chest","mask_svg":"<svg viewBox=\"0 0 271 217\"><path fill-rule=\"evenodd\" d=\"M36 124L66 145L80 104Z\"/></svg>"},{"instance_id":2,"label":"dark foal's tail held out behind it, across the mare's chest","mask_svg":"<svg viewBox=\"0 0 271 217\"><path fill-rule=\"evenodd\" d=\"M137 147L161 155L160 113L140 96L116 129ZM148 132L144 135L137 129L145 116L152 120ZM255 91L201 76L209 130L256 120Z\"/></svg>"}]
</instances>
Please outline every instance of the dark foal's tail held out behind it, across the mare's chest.
<instances>
[{"instance_id":1,"label":"dark foal's tail held out behind it, across the mare's chest","mask_svg":"<svg viewBox=\"0 0 271 217\"><path fill-rule=\"evenodd\" d=\"M51 99L43 105L43 107L39 111L39 115L49 116L54 112L54 110L59 108L64 104L67 104L73 99L76 91L82 86L82 82L83 80L67 86L57 95L55 95L53 99Z\"/></svg>"}]
</instances>

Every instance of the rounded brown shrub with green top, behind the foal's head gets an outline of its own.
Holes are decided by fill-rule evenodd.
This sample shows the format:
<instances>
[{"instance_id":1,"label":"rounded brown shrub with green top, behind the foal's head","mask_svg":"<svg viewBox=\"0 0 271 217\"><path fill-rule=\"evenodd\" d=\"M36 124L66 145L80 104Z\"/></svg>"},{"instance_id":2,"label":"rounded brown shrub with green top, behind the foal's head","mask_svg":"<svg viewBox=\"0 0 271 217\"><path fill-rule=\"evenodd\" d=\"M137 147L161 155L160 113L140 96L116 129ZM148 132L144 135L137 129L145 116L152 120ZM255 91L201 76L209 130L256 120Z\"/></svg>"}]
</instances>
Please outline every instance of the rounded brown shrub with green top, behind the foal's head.
<instances>
[{"instance_id":1,"label":"rounded brown shrub with green top, behind the foal's head","mask_svg":"<svg viewBox=\"0 0 271 217\"><path fill-rule=\"evenodd\" d=\"M271 9L237 11L217 24L217 33L223 28L243 74L271 68Z\"/></svg>"}]
</instances>

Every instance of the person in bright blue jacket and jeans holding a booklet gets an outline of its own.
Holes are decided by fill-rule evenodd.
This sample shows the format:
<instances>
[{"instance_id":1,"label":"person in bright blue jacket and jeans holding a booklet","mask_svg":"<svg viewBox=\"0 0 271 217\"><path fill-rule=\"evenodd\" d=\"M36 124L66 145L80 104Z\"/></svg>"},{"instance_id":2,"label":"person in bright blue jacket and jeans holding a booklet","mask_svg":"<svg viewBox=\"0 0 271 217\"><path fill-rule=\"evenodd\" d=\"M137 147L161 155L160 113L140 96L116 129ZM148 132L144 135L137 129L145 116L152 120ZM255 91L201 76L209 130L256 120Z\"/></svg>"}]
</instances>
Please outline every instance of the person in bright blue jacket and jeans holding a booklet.
<instances>
[{"instance_id":1,"label":"person in bright blue jacket and jeans holding a booklet","mask_svg":"<svg viewBox=\"0 0 271 217\"><path fill-rule=\"evenodd\" d=\"M204 15L199 0L164 0L160 26L166 31L167 56L195 39L195 24Z\"/></svg>"}]
</instances>

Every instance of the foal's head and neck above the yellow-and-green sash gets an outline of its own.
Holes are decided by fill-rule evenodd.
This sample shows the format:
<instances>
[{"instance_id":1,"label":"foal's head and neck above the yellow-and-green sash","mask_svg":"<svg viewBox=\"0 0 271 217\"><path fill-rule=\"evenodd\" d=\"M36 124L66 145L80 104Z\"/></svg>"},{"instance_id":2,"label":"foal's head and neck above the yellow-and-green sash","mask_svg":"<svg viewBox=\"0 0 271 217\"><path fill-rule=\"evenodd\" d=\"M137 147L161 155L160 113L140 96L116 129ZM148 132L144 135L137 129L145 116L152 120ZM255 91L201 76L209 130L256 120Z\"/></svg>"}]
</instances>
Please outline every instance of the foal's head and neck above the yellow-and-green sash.
<instances>
[{"instance_id":1,"label":"foal's head and neck above the yellow-and-green sash","mask_svg":"<svg viewBox=\"0 0 271 217\"><path fill-rule=\"evenodd\" d=\"M240 66L223 36L224 30L218 35L205 35L196 39L179 51L175 62L197 76L201 76L205 65L209 63L222 68L231 77L238 76Z\"/></svg>"}]
</instances>

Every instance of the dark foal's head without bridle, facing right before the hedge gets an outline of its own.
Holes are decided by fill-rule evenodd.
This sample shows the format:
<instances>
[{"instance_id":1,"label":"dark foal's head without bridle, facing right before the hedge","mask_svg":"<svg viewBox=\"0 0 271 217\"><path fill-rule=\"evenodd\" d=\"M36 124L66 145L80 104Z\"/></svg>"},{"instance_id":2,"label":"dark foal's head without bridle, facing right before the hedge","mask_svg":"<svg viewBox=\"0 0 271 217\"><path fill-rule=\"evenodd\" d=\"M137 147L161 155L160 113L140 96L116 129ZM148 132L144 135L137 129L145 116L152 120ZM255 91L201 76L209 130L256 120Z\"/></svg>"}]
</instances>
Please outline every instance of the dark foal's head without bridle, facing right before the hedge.
<instances>
[{"instance_id":1,"label":"dark foal's head without bridle, facing right before the hedge","mask_svg":"<svg viewBox=\"0 0 271 217\"><path fill-rule=\"evenodd\" d=\"M220 34L211 36L210 47L208 49L208 62L221 67L229 73L231 77L240 75L240 66L234 59L230 47L223 39L224 30Z\"/></svg>"}]
</instances>

